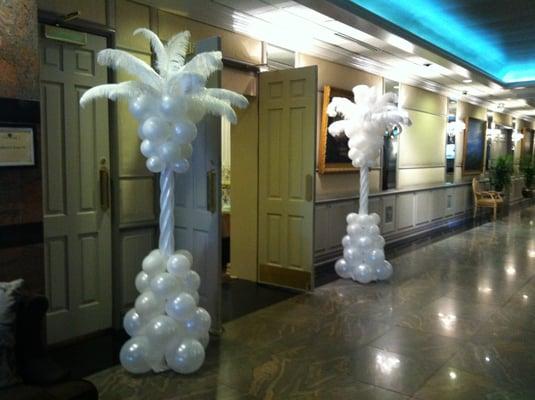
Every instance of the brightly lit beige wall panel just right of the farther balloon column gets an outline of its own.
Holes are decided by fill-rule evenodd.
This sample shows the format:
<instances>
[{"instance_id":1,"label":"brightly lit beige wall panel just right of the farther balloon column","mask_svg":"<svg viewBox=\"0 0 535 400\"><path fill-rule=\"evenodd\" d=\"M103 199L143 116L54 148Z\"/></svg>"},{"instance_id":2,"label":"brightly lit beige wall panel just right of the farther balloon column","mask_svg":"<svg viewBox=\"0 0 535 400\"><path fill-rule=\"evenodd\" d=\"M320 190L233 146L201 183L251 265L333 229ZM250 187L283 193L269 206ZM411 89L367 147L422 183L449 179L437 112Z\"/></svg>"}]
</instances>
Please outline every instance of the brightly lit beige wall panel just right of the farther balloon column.
<instances>
[{"instance_id":1,"label":"brightly lit beige wall panel just right of the farther balloon column","mask_svg":"<svg viewBox=\"0 0 535 400\"><path fill-rule=\"evenodd\" d=\"M399 104L412 126L399 137L398 188L444 182L447 101L445 96L400 85Z\"/></svg>"}]
</instances>

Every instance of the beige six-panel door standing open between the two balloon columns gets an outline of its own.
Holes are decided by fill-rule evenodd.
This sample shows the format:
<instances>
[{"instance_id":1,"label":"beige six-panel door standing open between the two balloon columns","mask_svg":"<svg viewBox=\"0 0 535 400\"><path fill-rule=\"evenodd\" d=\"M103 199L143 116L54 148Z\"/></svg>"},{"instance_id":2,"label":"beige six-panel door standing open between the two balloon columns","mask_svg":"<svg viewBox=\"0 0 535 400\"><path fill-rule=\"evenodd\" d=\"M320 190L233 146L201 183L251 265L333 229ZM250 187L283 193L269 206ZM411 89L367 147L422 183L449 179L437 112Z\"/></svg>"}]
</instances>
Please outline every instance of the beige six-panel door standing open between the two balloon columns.
<instances>
[{"instance_id":1,"label":"beige six-panel door standing open between the two balloon columns","mask_svg":"<svg viewBox=\"0 0 535 400\"><path fill-rule=\"evenodd\" d=\"M317 67L260 75L258 280L314 282Z\"/></svg>"}]
</instances>

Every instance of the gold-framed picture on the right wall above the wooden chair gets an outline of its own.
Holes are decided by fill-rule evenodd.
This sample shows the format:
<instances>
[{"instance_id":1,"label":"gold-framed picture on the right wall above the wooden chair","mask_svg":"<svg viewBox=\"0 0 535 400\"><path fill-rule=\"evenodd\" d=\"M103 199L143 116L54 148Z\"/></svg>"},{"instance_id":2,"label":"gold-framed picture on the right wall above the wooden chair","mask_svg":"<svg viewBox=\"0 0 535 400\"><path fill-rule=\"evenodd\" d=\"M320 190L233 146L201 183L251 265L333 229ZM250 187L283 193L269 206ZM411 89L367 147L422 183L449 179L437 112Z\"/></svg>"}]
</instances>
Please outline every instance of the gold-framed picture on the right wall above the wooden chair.
<instances>
[{"instance_id":1,"label":"gold-framed picture on the right wall above the wooden chair","mask_svg":"<svg viewBox=\"0 0 535 400\"><path fill-rule=\"evenodd\" d=\"M483 172L485 156L486 122L468 117L464 131L463 175L479 175Z\"/></svg>"}]
</instances>

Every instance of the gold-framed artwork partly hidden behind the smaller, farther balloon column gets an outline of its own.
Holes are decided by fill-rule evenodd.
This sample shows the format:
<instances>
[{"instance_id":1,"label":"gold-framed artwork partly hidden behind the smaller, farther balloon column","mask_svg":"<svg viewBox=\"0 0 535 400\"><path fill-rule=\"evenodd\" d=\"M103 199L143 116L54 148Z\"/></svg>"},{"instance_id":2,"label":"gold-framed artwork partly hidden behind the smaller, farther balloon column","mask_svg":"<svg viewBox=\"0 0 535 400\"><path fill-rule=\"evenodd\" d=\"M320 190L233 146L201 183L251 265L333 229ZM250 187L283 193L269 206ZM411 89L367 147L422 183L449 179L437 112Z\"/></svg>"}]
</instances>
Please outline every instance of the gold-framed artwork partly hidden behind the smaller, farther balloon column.
<instances>
[{"instance_id":1,"label":"gold-framed artwork partly hidden behind the smaller, farther balloon column","mask_svg":"<svg viewBox=\"0 0 535 400\"><path fill-rule=\"evenodd\" d=\"M321 109L321 131L318 151L318 172L320 174L333 172L355 172L356 169L351 164L347 153L348 138L345 135L333 137L327 132L331 123L341 117L329 117L327 106L333 97L345 97L353 101L353 93L349 90L336 89L328 85L323 87L323 106Z\"/></svg>"}]
</instances>

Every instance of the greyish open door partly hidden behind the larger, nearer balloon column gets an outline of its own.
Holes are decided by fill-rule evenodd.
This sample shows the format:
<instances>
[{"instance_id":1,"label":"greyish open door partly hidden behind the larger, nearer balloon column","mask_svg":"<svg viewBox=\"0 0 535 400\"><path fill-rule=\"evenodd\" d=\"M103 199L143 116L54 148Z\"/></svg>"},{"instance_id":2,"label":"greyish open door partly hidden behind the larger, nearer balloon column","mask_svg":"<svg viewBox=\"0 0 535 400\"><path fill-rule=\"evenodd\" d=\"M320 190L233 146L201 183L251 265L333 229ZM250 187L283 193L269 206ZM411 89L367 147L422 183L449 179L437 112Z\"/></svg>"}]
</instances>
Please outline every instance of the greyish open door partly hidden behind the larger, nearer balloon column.
<instances>
[{"instance_id":1,"label":"greyish open door partly hidden behind the larger, nearer balloon column","mask_svg":"<svg viewBox=\"0 0 535 400\"><path fill-rule=\"evenodd\" d=\"M196 43L196 53L221 49L221 39ZM221 72L207 87L221 87ZM175 245L193 255L201 277L200 306L212 317L212 333L221 330L221 118L207 115L197 126L191 168L175 182Z\"/></svg>"}]
</instances>

